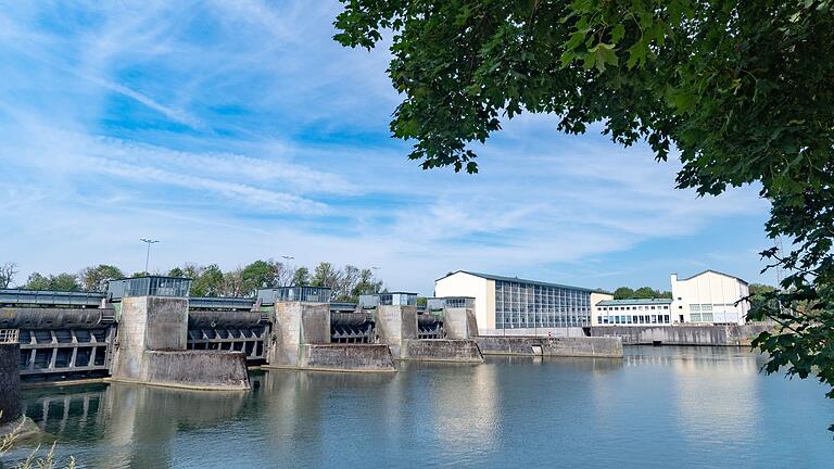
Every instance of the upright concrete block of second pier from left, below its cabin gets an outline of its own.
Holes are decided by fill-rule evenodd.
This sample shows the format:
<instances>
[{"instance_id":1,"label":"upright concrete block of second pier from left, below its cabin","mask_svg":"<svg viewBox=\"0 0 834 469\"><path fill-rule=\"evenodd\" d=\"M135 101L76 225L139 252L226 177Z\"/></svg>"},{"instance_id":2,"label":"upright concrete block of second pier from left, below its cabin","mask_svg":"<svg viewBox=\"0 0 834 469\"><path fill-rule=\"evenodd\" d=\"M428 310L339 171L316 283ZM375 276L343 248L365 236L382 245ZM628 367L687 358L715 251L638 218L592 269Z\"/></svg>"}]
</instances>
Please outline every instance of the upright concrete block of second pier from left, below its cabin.
<instances>
[{"instance_id":1,"label":"upright concrete block of second pier from left, below its cabin","mask_svg":"<svg viewBox=\"0 0 834 469\"><path fill-rule=\"evenodd\" d=\"M305 344L330 343L330 305L278 302L273 318L267 366L296 368Z\"/></svg>"}]
</instances>

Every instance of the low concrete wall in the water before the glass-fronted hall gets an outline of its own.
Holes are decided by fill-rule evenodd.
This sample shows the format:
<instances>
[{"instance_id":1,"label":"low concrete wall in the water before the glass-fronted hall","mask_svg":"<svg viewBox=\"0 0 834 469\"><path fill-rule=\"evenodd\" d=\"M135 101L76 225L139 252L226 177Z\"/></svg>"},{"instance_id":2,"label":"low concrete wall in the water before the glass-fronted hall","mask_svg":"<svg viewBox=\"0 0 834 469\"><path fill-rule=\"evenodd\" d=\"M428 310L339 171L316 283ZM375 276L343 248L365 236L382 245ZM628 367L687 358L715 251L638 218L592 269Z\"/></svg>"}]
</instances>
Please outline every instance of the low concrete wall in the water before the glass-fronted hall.
<instances>
[{"instance_id":1,"label":"low concrete wall in the water before the glass-fronted hall","mask_svg":"<svg viewBox=\"0 0 834 469\"><path fill-rule=\"evenodd\" d=\"M622 357L620 338L539 338L479 335L475 338L484 355L541 355L565 357Z\"/></svg>"}]
</instances>

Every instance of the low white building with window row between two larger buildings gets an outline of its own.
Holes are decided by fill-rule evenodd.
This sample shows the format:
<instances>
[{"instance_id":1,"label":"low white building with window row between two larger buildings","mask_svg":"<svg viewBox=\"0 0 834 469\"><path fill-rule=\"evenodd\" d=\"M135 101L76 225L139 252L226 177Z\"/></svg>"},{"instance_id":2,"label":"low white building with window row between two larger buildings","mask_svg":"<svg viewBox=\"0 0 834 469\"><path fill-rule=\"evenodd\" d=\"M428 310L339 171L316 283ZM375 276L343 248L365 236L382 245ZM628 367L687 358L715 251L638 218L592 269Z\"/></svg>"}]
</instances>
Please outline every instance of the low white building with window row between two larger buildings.
<instances>
[{"instance_id":1,"label":"low white building with window row between two larger buildings","mask_svg":"<svg viewBox=\"0 0 834 469\"><path fill-rule=\"evenodd\" d=\"M603 300L591 316L592 326L669 325L673 320L671 299Z\"/></svg>"}]
</instances>

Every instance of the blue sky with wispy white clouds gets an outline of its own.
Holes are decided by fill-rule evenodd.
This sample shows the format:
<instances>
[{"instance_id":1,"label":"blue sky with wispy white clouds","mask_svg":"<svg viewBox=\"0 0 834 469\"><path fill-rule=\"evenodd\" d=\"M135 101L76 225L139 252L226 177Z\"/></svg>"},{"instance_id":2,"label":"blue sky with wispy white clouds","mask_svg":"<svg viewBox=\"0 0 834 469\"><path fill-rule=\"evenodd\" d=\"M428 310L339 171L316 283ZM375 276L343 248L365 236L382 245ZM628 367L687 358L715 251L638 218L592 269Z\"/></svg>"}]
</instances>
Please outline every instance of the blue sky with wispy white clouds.
<instances>
[{"instance_id":1,"label":"blue sky with wispy white clouds","mask_svg":"<svg viewBox=\"0 0 834 469\"><path fill-rule=\"evenodd\" d=\"M612 290L707 268L749 282L772 245L756 187L674 189L645 145L504 122L478 175L390 137L383 47L342 48L336 1L0 5L0 263L224 269L292 256L431 294L452 270Z\"/></svg>"}]
</instances>

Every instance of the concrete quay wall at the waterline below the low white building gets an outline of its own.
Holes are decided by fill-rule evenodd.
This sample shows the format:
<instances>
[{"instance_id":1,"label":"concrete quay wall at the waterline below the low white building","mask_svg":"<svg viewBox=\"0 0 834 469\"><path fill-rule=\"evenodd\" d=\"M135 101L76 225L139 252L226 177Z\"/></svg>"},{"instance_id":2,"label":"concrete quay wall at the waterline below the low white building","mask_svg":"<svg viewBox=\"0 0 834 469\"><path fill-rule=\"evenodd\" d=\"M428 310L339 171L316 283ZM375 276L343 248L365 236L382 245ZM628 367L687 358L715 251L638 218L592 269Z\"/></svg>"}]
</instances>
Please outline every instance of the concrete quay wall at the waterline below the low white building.
<instances>
[{"instance_id":1,"label":"concrete quay wall at the waterline below the low white building","mask_svg":"<svg viewBox=\"0 0 834 469\"><path fill-rule=\"evenodd\" d=\"M591 328L593 337L620 337L627 345L750 345L750 341L771 326L602 326Z\"/></svg>"}]
</instances>

